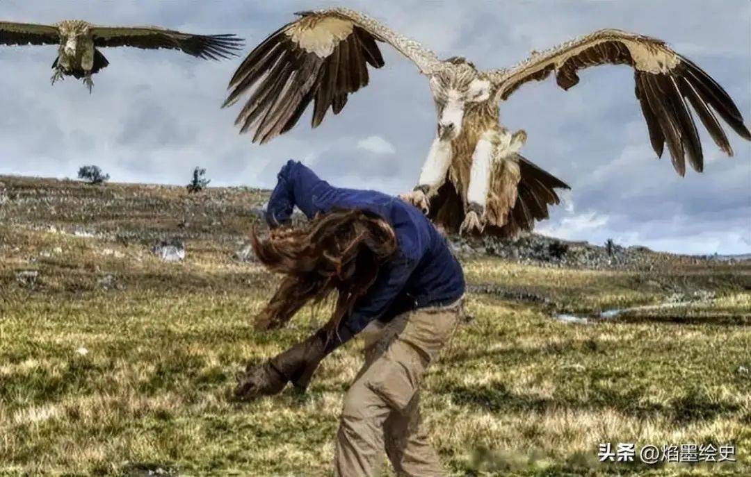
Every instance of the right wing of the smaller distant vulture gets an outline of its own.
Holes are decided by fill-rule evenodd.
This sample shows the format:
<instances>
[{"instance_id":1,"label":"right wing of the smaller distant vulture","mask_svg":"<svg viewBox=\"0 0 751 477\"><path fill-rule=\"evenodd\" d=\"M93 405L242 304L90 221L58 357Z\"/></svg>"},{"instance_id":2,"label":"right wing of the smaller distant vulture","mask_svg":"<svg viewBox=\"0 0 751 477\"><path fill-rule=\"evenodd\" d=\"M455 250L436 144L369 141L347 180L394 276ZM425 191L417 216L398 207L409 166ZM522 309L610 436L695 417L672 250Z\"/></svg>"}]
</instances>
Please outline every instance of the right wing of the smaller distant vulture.
<instances>
[{"instance_id":1,"label":"right wing of the smaller distant vulture","mask_svg":"<svg viewBox=\"0 0 751 477\"><path fill-rule=\"evenodd\" d=\"M243 39L234 34L189 34L159 26L92 26L94 46L134 46L143 49L181 49L204 59L237 56Z\"/></svg>"}]
</instances>

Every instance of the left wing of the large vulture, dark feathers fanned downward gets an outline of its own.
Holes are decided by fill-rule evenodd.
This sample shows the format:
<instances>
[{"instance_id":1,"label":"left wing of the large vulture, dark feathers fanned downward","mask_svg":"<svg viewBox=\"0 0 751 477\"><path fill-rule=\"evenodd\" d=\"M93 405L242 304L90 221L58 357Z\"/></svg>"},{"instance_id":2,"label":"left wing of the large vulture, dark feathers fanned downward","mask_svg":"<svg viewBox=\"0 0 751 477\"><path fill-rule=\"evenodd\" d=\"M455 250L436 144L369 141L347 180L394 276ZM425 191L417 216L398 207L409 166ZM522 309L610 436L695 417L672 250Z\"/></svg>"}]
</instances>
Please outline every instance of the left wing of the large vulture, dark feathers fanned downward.
<instances>
[{"instance_id":1,"label":"left wing of the large vulture, dark feathers fanned downward","mask_svg":"<svg viewBox=\"0 0 751 477\"><path fill-rule=\"evenodd\" d=\"M290 130L311 102L312 127L321 124L329 107L338 114L348 95L368 84L367 65L384 65L376 40L394 46L423 74L440 65L435 53L415 40L353 10L297 14L299 20L282 26L250 52L230 81L225 107L252 91L235 124L243 133L255 130L254 142Z\"/></svg>"}]
</instances>

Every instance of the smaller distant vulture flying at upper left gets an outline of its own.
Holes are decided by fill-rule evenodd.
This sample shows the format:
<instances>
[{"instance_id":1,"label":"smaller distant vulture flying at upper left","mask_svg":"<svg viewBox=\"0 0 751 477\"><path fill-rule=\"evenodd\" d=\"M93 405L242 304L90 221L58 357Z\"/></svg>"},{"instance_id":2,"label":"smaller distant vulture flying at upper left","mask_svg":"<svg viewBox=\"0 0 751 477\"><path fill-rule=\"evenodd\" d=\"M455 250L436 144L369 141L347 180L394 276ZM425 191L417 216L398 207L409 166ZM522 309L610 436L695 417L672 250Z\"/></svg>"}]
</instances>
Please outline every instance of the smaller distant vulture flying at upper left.
<instances>
[{"instance_id":1,"label":"smaller distant vulture flying at upper left","mask_svg":"<svg viewBox=\"0 0 751 477\"><path fill-rule=\"evenodd\" d=\"M109 65L98 48L135 46L143 49L181 49L198 58L219 59L235 55L243 40L234 34L189 34L158 26L96 26L82 20L54 25L0 21L2 45L58 45L52 65L52 83L63 77L83 78L92 89L92 74Z\"/></svg>"}]
</instances>

